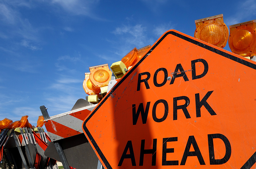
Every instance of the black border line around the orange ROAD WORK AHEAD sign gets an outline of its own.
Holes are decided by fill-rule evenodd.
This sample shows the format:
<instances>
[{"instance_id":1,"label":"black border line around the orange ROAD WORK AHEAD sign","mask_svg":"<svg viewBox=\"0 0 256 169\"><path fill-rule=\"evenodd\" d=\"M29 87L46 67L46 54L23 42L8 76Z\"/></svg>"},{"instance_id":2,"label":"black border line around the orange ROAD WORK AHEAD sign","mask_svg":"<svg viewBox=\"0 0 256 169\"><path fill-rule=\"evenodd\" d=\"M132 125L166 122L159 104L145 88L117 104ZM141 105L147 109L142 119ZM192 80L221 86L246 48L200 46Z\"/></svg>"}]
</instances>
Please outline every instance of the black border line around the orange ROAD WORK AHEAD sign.
<instances>
[{"instance_id":1,"label":"black border line around the orange ROAD WORK AHEAD sign","mask_svg":"<svg viewBox=\"0 0 256 169\"><path fill-rule=\"evenodd\" d=\"M161 43L161 41L162 41L163 39L165 39L165 37L166 37L167 35L169 35L169 34L174 35L174 36L176 36L176 37L179 37L179 38L181 38L181 39L183 39L183 40L186 40L186 41L188 41L188 42L194 43L194 44L196 44L196 45L198 45L198 46L200 46L200 47L202 47L202 48L204 48L204 49L207 49L207 50L209 50L209 51L212 51L212 52L214 52L214 53L216 53L216 54L219 54L219 55L221 55L221 56L224 56L224 57L226 57L226 58L229 58L229 59L231 59L231 60L233 60L233 61L236 61L236 62L238 62L238 63L241 63L241 64L243 64L243 65L245 65L245 66L247 66L247 67L250 67L250 68L256 70L256 65L253 64L253 63L251 63L251 62L248 62L248 61L243 60L243 59L241 59L241 58L238 58L238 57L236 57L236 56L233 56L233 55L230 55L230 54L225 53L225 52L223 52L223 51L220 51L220 50L218 50L218 49L215 49L215 48L213 48L213 47L211 47L211 46L208 46L207 44L198 42L198 41L196 41L196 40L194 40L194 39L191 39L191 38L186 37L186 36L184 36L184 35L181 35L181 34L179 34L179 33L176 33L176 32L173 32L173 31L166 32L165 35L163 35L163 36L156 42L156 44L150 49L150 51L148 51L148 52L146 53L146 55L144 55L144 56L142 57L142 59L141 59L136 65L133 65L133 67L131 68L131 70L130 70L129 72L127 72L127 73L124 75L124 77L118 81L118 83L116 84L116 86L110 91L110 93L109 93L103 100L101 100L101 102L100 102L99 105L96 107L96 109L94 109L94 111L90 114L90 116L89 116L89 117L85 120L85 122L84 122L84 125L83 125L84 131L85 131L86 134L88 135L89 139L91 140L91 143L93 143L93 146L95 147L95 149L96 149L96 151L98 152L98 154L100 155L100 157L101 157L103 163L105 164L105 166L106 166L108 169L112 169L112 167L110 166L110 164L109 164L108 160L106 159L106 157L104 156L104 154L101 152L101 150L100 150L99 146L97 145L97 143L95 142L94 138L91 136L89 130L86 128L86 123L87 123L88 120L96 113L96 111L101 107L101 105L104 104L104 102L109 98L109 96L118 88L118 86L120 86L120 84L121 84L121 83L122 83L122 82L140 65L140 63L141 63L141 62L156 48L156 46L158 46L159 43ZM253 159L254 159L254 160L253 160ZM251 156L250 159L248 159L248 161L252 161L252 160L255 161L255 159L256 159L256 152ZM248 161L247 161L244 165L246 165L246 164L248 163ZM256 162L256 161L255 161L255 162ZM254 162L254 163L255 163L255 162ZM254 163L253 163L253 164L254 164ZM253 166L253 164L252 164L252 166ZM251 166L251 167L252 167L252 166ZM244 166L243 166L243 167L244 167ZM250 167L250 168L251 168L251 167Z\"/></svg>"}]
</instances>

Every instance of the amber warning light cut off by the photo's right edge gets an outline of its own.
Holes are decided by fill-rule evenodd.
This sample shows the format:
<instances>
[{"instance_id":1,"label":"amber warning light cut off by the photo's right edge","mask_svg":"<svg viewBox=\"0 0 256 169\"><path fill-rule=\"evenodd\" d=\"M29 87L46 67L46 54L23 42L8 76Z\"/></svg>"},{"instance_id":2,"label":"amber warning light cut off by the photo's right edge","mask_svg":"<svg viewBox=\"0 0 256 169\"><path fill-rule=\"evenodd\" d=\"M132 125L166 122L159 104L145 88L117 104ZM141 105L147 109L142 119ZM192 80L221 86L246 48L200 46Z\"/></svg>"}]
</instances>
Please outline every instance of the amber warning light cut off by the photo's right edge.
<instances>
[{"instance_id":1,"label":"amber warning light cut off by the photo's right edge","mask_svg":"<svg viewBox=\"0 0 256 169\"><path fill-rule=\"evenodd\" d=\"M228 45L233 53L248 57L256 52L256 20L229 26Z\"/></svg>"}]
</instances>

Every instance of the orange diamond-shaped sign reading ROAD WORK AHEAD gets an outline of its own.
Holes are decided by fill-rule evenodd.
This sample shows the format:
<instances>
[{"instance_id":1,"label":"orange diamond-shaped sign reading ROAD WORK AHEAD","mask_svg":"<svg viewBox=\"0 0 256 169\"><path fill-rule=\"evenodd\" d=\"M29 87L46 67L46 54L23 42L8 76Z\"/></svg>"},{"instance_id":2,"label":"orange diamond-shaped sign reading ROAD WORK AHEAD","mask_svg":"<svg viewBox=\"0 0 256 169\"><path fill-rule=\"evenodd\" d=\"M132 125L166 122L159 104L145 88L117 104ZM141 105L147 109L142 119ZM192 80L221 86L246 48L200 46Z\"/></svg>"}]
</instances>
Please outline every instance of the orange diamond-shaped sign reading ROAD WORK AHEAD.
<instances>
[{"instance_id":1,"label":"orange diamond-shaped sign reading ROAD WORK AHEAD","mask_svg":"<svg viewBox=\"0 0 256 169\"><path fill-rule=\"evenodd\" d=\"M105 168L256 167L256 65L175 30L84 120Z\"/></svg>"}]
</instances>

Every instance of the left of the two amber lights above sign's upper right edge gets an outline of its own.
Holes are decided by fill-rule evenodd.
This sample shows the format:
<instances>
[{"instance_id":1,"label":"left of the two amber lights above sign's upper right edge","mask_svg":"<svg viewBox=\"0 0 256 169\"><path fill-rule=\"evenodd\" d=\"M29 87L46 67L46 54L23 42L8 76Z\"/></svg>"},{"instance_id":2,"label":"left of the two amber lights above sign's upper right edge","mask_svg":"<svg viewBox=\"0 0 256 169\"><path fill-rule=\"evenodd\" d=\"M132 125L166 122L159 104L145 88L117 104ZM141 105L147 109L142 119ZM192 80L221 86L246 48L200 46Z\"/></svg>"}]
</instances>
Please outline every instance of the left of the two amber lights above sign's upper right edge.
<instances>
[{"instance_id":1,"label":"left of the two amber lights above sign's upper right edge","mask_svg":"<svg viewBox=\"0 0 256 169\"><path fill-rule=\"evenodd\" d=\"M207 43L224 48L228 41L228 27L223 21L223 14L195 20L194 37Z\"/></svg>"}]
</instances>

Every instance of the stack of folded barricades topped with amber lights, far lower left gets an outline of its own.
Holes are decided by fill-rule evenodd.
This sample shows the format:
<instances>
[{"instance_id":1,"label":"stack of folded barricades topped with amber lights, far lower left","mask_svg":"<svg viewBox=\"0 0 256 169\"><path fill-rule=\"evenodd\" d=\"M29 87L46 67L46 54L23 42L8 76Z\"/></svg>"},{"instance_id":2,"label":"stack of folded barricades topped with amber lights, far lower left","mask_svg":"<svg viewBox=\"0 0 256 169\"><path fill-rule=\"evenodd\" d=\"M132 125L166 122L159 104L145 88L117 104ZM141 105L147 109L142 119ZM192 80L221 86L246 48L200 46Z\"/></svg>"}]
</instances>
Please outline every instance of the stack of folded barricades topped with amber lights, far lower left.
<instances>
[{"instance_id":1,"label":"stack of folded barricades topped with amber lights, far lower left","mask_svg":"<svg viewBox=\"0 0 256 169\"><path fill-rule=\"evenodd\" d=\"M37 121L37 127L34 127L28 122L27 115L22 116L20 120L14 122L8 118L1 120L0 161L2 160L4 154L5 159L8 162L14 162L15 168L19 167L20 164L18 163L20 162L20 158L22 159L22 163L25 166L25 168L39 169L45 166L53 167L56 164L56 160L46 157L43 154L49 142L51 142L51 139L48 137L47 134L45 134L42 128L42 126L44 125L43 121L43 116L39 116ZM15 142L12 142L10 140L14 140ZM21 147L25 147L26 153L22 151ZM37 151L39 147L40 152ZM20 158L17 157L17 151L14 150L13 148L18 149ZM4 149L9 150L9 156L6 155ZM31 156L29 154L34 154L34 156ZM13 155L15 155L15 157ZM10 157L11 159L8 159ZM11 168L11 166L9 167Z\"/></svg>"}]
</instances>

